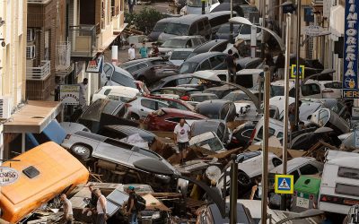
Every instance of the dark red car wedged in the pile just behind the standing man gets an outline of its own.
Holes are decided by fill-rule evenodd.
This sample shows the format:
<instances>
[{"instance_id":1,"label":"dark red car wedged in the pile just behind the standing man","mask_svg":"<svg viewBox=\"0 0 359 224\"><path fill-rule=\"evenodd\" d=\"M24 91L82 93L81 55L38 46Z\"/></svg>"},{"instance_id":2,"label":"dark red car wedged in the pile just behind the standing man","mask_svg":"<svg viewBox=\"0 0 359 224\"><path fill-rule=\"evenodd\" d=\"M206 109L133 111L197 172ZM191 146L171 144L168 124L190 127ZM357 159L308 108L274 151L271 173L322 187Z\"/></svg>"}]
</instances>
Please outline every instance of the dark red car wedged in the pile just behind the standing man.
<instances>
[{"instance_id":1,"label":"dark red car wedged in the pile just behind the standing man","mask_svg":"<svg viewBox=\"0 0 359 224\"><path fill-rule=\"evenodd\" d=\"M149 114L144 119L144 125L148 131L173 132L174 127L179 124L180 118L184 117L186 121L207 119L206 116L196 114L191 111L161 108Z\"/></svg>"}]
</instances>

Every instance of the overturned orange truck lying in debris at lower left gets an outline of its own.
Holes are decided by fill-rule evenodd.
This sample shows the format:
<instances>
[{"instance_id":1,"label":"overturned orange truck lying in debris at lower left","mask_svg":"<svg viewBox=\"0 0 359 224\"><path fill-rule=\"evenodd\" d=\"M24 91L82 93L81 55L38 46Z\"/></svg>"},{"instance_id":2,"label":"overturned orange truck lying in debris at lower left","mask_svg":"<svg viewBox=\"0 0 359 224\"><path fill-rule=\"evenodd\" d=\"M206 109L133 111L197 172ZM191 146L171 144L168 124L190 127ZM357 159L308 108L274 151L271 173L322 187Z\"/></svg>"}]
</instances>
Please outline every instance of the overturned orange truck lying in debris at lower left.
<instances>
[{"instance_id":1,"label":"overturned orange truck lying in debris at lower left","mask_svg":"<svg viewBox=\"0 0 359 224\"><path fill-rule=\"evenodd\" d=\"M16 223L58 194L69 193L84 185L89 171L69 152L55 142L43 143L2 167L17 170L19 177L0 188L1 219ZM10 164L11 163L11 164Z\"/></svg>"}]
</instances>

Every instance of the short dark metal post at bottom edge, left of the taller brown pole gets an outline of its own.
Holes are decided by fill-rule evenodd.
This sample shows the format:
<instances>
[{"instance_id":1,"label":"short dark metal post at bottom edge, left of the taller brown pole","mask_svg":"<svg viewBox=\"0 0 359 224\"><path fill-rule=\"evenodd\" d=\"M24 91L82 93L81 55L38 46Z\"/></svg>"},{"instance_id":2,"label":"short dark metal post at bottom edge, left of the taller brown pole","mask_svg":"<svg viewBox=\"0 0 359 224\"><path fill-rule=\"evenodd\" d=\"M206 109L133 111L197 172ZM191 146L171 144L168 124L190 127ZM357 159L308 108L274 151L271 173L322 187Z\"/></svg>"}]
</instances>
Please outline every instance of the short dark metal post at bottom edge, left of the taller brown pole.
<instances>
[{"instance_id":1,"label":"short dark metal post at bottom edge, left of the taller brown pole","mask_svg":"<svg viewBox=\"0 0 359 224\"><path fill-rule=\"evenodd\" d=\"M237 156L231 156L231 194L230 194L230 223L237 224L237 198L238 198L238 163ZM225 188L225 184L224 184ZM225 200L225 198L224 198Z\"/></svg>"}]
</instances>

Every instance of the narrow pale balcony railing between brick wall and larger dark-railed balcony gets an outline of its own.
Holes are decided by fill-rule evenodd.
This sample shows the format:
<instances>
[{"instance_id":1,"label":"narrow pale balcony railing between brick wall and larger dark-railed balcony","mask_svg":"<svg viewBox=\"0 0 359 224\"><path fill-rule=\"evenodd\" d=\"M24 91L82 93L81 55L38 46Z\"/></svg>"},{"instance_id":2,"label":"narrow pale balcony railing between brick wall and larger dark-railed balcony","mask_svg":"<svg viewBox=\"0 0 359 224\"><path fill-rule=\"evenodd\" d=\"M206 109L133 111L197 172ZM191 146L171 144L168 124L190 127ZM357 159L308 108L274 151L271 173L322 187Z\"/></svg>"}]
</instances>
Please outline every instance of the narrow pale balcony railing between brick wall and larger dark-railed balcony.
<instances>
[{"instance_id":1,"label":"narrow pale balcony railing between brick wall and larger dark-railed balcony","mask_svg":"<svg viewBox=\"0 0 359 224\"><path fill-rule=\"evenodd\" d=\"M65 72L71 67L71 44L69 41L59 42L56 46L56 71Z\"/></svg>"}]
</instances>

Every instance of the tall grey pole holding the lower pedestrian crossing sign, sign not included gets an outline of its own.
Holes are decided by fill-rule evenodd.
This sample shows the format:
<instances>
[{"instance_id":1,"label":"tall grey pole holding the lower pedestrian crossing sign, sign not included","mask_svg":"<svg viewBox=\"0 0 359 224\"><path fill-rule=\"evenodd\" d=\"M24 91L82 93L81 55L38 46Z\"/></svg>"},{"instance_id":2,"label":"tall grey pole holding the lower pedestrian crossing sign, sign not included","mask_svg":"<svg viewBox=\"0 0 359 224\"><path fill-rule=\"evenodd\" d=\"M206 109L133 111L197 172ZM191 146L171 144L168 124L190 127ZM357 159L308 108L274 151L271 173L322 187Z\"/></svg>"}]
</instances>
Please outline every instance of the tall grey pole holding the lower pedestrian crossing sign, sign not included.
<instances>
[{"instance_id":1,"label":"tall grey pole holding the lower pedestrian crossing sign, sign not included","mask_svg":"<svg viewBox=\"0 0 359 224\"><path fill-rule=\"evenodd\" d=\"M292 14L286 13L286 28L285 28L285 116L284 116L284 131L285 134L283 136L283 170L282 174L286 174L287 172L287 160L288 160L288 121L289 121L289 113L288 113L288 97L289 97L289 63L291 56L291 32L289 30L289 24L292 22ZM281 210L285 211L285 194L282 194L281 198Z\"/></svg>"}]
</instances>

